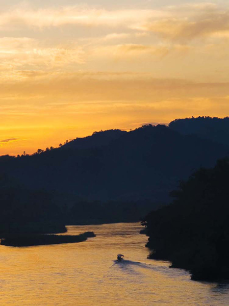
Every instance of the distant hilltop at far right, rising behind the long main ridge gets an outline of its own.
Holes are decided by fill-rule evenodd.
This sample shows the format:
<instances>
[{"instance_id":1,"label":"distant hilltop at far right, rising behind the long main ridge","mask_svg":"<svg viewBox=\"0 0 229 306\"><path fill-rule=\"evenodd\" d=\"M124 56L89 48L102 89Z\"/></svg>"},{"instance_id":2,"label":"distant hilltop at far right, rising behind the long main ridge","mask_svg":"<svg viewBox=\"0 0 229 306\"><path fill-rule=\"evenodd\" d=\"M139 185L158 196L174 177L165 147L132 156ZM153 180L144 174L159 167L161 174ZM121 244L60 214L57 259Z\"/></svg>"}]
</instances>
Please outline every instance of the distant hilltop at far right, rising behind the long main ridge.
<instances>
[{"instance_id":1,"label":"distant hilltop at far right, rising behind the long main ridge","mask_svg":"<svg viewBox=\"0 0 229 306\"><path fill-rule=\"evenodd\" d=\"M169 123L169 127L184 135L198 135L229 146L229 117L175 119Z\"/></svg>"}]
</instances>

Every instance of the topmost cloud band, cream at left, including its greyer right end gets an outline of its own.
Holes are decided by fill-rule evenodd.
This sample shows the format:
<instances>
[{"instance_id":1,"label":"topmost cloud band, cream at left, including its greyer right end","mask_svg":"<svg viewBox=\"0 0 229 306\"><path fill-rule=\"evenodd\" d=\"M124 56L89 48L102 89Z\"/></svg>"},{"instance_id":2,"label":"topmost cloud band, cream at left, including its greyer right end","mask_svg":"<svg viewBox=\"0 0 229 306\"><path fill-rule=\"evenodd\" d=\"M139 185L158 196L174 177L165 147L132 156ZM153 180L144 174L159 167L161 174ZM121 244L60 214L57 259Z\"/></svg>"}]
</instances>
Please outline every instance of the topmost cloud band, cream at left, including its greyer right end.
<instances>
[{"instance_id":1,"label":"topmost cloud band, cream at left, including its greyer right end","mask_svg":"<svg viewBox=\"0 0 229 306\"><path fill-rule=\"evenodd\" d=\"M157 10L105 10L80 6L50 9L15 9L0 14L0 29L50 28L64 25L85 27L123 27L149 31L161 38L188 41L196 37L223 33L229 30L229 9L212 3L168 6ZM117 34L116 37L118 37ZM123 35L120 35L120 38ZM116 38L115 35L107 39Z\"/></svg>"}]
</instances>

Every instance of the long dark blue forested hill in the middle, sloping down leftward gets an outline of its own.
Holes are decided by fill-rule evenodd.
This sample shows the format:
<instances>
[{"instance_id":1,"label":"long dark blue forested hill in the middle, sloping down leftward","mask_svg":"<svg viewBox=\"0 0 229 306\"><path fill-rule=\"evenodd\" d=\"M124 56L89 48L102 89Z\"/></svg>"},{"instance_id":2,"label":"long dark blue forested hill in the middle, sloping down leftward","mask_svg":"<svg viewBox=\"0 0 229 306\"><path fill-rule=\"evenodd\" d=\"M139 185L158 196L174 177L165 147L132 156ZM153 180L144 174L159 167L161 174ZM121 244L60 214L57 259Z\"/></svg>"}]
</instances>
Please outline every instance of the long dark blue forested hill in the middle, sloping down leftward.
<instances>
[{"instance_id":1,"label":"long dark blue forested hill in the middle, sloping down leftward","mask_svg":"<svg viewBox=\"0 0 229 306\"><path fill-rule=\"evenodd\" d=\"M211 167L228 147L165 125L111 130L32 156L1 157L0 174L28 189L87 200L166 202L168 192L200 166Z\"/></svg>"}]
</instances>

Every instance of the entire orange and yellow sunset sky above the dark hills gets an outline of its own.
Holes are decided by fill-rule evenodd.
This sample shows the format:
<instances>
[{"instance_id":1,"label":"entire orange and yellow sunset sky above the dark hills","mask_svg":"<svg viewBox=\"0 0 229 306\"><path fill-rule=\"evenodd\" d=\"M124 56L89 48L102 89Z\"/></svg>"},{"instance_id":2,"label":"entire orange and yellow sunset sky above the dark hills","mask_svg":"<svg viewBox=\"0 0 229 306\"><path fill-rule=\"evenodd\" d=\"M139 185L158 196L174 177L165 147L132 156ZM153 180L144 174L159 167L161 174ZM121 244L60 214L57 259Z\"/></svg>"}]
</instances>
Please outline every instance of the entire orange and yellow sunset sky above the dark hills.
<instances>
[{"instance_id":1,"label":"entire orange and yellow sunset sky above the dark hills","mask_svg":"<svg viewBox=\"0 0 229 306\"><path fill-rule=\"evenodd\" d=\"M0 155L108 129L229 115L227 0L8 0Z\"/></svg>"}]
</instances>

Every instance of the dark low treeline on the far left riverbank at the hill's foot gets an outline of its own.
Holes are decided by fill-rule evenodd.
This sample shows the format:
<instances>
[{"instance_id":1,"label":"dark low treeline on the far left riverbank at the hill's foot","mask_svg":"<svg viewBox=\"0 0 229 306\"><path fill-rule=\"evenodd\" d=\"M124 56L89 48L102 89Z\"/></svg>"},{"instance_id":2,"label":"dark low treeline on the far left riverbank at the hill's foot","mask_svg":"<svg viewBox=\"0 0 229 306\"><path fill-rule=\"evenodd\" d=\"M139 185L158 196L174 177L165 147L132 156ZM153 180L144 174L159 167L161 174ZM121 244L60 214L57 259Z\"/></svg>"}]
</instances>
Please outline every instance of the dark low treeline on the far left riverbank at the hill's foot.
<instances>
[{"instance_id":1,"label":"dark low treeline on the far left riverbank at the hill's foot","mask_svg":"<svg viewBox=\"0 0 229 306\"><path fill-rule=\"evenodd\" d=\"M159 207L149 200L83 201L58 192L29 190L17 186L8 176L0 186L0 238L14 233L63 233L66 231L63 224L140 221Z\"/></svg>"}]
</instances>

